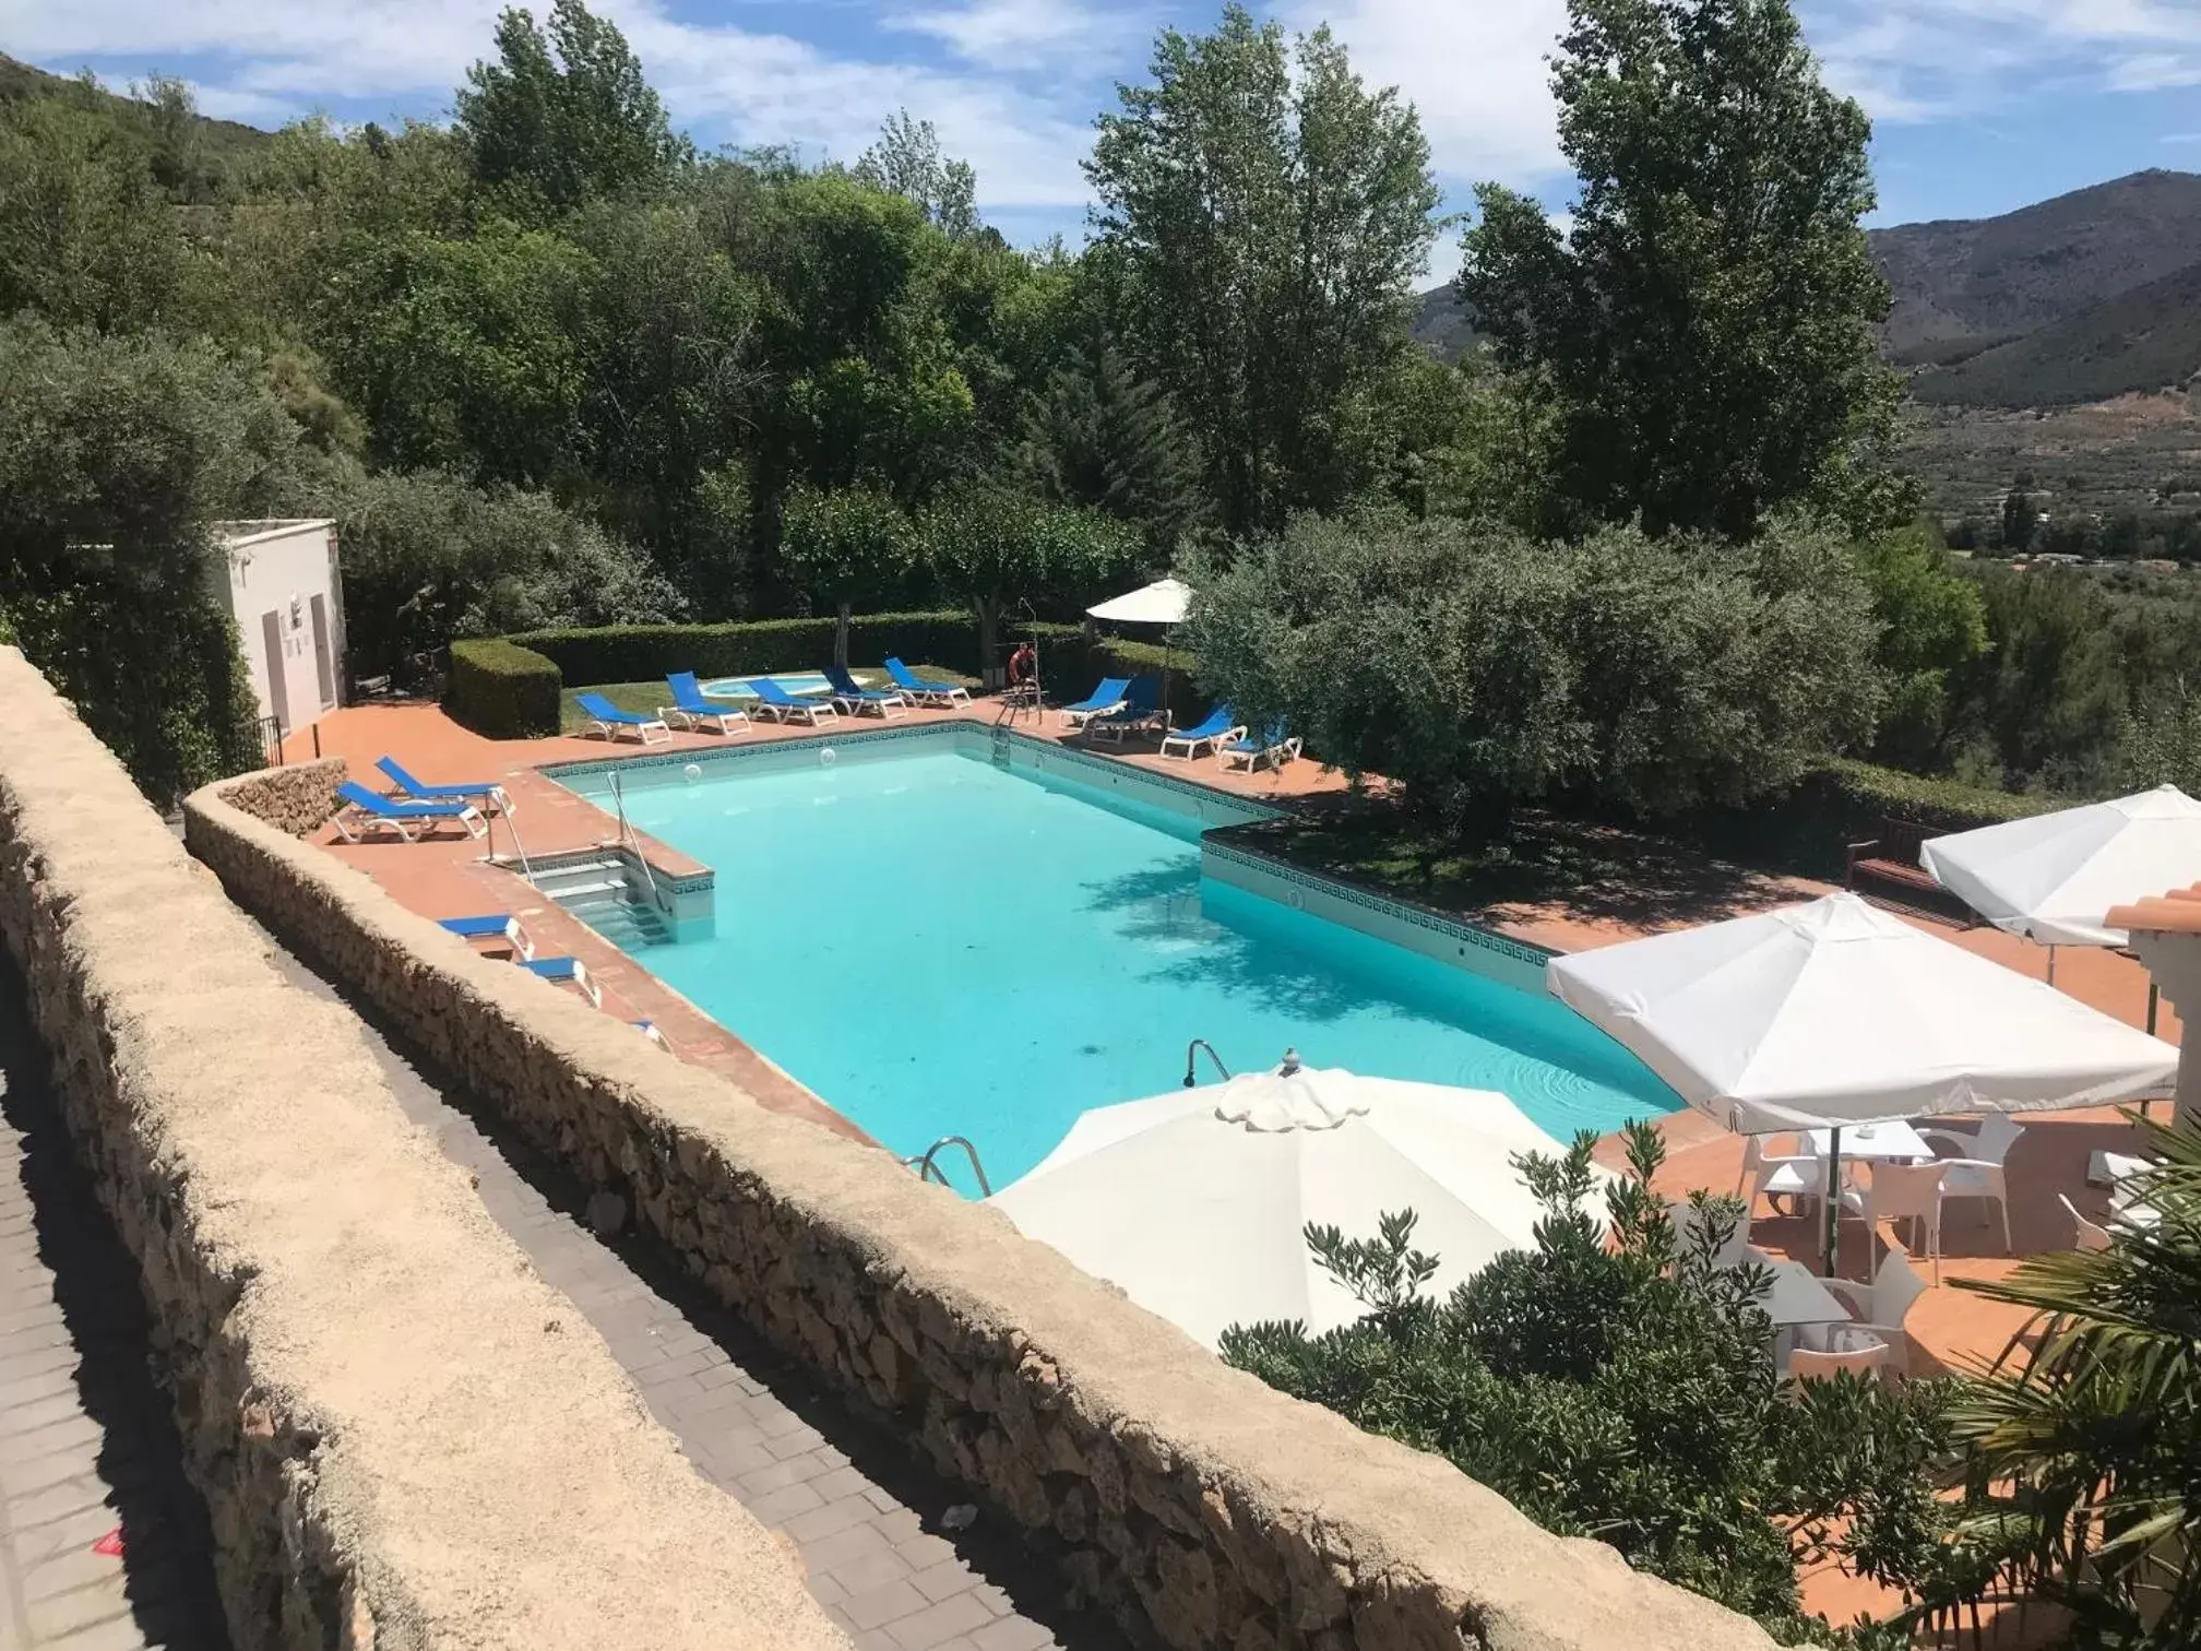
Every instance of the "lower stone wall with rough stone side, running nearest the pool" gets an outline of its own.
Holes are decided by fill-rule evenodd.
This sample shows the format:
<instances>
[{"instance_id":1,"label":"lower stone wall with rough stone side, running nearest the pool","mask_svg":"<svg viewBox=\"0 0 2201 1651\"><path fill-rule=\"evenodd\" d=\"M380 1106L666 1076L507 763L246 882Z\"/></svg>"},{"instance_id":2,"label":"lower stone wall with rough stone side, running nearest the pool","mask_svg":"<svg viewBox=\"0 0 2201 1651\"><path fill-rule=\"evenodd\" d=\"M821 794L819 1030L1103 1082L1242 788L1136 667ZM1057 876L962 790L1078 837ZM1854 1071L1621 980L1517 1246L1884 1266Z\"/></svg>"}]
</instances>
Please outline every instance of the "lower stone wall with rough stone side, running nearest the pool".
<instances>
[{"instance_id":1,"label":"lower stone wall with rough stone side, running nearest the pool","mask_svg":"<svg viewBox=\"0 0 2201 1651\"><path fill-rule=\"evenodd\" d=\"M1074 1596L1184 1651L1761 1651L1759 1627L1360 1433L874 1147L768 1112L231 808L191 852Z\"/></svg>"}]
</instances>

